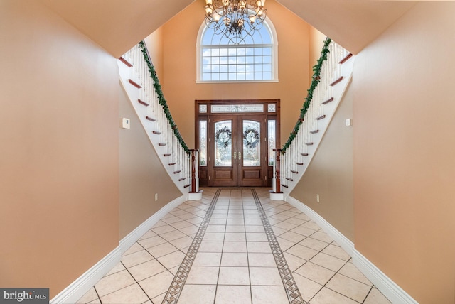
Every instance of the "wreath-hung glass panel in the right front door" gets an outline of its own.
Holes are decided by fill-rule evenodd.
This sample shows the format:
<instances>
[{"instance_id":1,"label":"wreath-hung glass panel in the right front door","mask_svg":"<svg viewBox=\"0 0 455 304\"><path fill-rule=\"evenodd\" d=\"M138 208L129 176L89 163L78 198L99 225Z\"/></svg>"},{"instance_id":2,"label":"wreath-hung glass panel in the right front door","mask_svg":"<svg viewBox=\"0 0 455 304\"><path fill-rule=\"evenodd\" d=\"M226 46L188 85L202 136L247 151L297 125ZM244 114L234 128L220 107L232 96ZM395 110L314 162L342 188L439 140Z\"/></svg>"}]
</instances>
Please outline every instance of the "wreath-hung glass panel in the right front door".
<instances>
[{"instance_id":1,"label":"wreath-hung glass panel in the right front door","mask_svg":"<svg viewBox=\"0 0 455 304\"><path fill-rule=\"evenodd\" d=\"M257 121L243 121L243 165L261 165L261 124Z\"/></svg>"}]
</instances>

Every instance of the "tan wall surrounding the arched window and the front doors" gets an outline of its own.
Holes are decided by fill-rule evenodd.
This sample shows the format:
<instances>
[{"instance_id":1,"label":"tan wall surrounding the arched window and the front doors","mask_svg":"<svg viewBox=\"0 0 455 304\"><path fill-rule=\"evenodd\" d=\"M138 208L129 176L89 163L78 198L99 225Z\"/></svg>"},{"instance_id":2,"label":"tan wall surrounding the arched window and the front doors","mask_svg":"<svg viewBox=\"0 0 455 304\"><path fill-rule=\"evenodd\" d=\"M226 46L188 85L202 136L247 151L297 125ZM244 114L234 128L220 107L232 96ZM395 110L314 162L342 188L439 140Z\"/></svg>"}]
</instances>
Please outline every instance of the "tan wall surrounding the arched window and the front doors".
<instances>
[{"instance_id":1,"label":"tan wall surrounding the arched window and the front doors","mask_svg":"<svg viewBox=\"0 0 455 304\"><path fill-rule=\"evenodd\" d=\"M204 5L204 0L195 1L163 26L165 72L161 83L183 139L194 146L195 99L281 99L281 138L286 141L308 89L309 25L276 1L267 1L267 16L278 35L279 82L196 84L196 38Z\"/></svg>"}]
</instances>

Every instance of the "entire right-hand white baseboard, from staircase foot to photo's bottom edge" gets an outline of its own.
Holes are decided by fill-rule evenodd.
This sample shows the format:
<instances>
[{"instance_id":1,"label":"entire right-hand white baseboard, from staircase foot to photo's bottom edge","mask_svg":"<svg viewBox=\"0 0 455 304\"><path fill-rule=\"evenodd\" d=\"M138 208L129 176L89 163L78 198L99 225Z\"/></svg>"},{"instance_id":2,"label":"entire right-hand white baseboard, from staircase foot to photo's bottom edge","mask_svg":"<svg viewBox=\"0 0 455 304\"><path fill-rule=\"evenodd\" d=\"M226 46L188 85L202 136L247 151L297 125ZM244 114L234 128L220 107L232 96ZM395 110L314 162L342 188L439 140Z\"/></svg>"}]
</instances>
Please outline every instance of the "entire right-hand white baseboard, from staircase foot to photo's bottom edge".
<instances>
[{"instance_id":1,"label":"entire right-hand white baseboard, from staircase foot to photo's bottom edge","mask_svg":"<svg viewBox=\"0 0 455 304\"><path fill-rule=\"evenodd\" d=\"M326 219L323 219L321 215L316 213L310 207L306 206L303 202L296 200L294 197L287 196L286 201L289 204L296 207L301 212L304 212L311 219L319 224L319 227L323 229L338 245L340 245L350 256L353 258L353 264L368 278L379 290L385 295L385 297L392 303L397 304L418 304L410 295L400 288L394 281L385 275L375 264L371 263L365 256L360 254L357 249L354 248L354 243L333 227Z\"/></svg>"}]
</instances>

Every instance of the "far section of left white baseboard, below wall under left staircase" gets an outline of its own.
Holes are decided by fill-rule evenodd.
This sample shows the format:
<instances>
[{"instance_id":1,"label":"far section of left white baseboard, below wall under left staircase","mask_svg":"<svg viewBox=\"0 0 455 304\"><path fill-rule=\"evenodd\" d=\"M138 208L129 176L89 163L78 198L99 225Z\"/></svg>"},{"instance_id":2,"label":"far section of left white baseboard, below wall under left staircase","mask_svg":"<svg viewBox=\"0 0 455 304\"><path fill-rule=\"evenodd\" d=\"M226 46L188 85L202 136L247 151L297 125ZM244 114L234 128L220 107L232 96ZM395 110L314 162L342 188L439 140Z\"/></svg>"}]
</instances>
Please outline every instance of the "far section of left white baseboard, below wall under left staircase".
<instances>
[{"instance_id":1,"label":"far section of left white baseboard, below wall under left staircase","mask_svg":"<svg viewBox=\"0 0 455 304\"><path fill-rule=\"evenodd\" d=\"M164 215L166 215L169 211L173 210L173 208L177 207L178 205L185 201L186 198L183 195L181 197L177 197L175 200L173 200L172 202L168 202L168 204L166 204L160 210L155 212L154 215L149 217L149 219L146 219L145 222L140 224L132 232L129 232L129 234L123 239L121 239L119 242L122 254L124 254L124 252L127 251L129 247L133 246L134 243L136 243L138 239L140 239L147 231L149 231L151 227L154 227L154 224L159 222L159 220L162 217L164 217Z\"/></svg>"}]
</instances>

